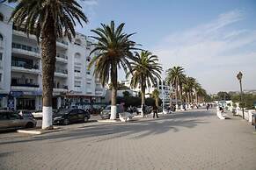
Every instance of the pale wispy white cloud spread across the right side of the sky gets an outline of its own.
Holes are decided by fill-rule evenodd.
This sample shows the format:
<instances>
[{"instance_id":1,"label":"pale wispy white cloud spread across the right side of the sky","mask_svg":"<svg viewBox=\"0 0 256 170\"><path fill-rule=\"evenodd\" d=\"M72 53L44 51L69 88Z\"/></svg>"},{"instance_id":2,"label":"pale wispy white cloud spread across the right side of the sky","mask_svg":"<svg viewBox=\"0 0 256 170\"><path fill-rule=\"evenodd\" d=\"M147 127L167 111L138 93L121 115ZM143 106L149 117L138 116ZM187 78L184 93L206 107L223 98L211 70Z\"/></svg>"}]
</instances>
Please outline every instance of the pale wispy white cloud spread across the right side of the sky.
<instances>
[{"instance_id":1,"label":"pale wispy white cloud spread across the right side of the sky","mask_svg":"<svg viewBox=\"0 0 256 170\"><path fill-rule=\"evenodd\" d=\"M236 73L248 76L245 88L256 89L256 31L236 29L243 11L229 11L183 32L173 32L152 49L163 67L180 65L209 92L236 90Z\"/></svg>"}]
</instances>

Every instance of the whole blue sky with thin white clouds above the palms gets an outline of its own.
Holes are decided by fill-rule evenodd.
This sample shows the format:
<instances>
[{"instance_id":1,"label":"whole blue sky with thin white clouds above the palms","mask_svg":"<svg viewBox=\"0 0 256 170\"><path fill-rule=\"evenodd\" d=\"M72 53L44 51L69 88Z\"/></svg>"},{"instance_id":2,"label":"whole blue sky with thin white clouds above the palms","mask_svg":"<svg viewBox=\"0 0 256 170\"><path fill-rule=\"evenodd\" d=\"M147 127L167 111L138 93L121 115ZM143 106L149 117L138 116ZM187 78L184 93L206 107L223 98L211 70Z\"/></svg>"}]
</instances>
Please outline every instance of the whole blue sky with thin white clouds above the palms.
<instances>
[{"instance_id":1,"label":"whole blue sky with thin white clouds above the palms","mask_svg":"<svg viewBox=\"0 0 256 170\"><path fill-rule=\"evenodd\" d=\"M100 23L124 22L125 32L136 32L131 39L157 54L164 70L184 67L208 93L237 91L239 71L244 89L256 89L255 0L87 0L82 5L89 24L78 32L92 35Z\"/></svg>"}]
</instances>

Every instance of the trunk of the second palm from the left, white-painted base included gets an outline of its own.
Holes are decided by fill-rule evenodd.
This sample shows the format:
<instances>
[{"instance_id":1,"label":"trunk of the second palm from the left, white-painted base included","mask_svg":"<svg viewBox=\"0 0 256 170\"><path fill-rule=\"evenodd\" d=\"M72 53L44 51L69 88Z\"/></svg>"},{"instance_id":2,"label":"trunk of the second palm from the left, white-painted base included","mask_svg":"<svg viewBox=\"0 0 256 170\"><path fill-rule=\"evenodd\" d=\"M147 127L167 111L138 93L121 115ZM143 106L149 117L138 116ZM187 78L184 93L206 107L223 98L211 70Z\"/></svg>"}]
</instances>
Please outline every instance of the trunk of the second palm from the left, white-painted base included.
<instances>
[{"instance_id":1,"label":"trunk of the second palm from the left, white-painted base included","mask_svg":"<svg viewBox=\"0 0 256 170\"><path fill-rule=\"evenodd\" d=\"M111 82L112 82L112 94L111 94L111 114L110 119L116 119L116 92L117 92L117 67L111 66Z\"/></svg>"}]
</instances>

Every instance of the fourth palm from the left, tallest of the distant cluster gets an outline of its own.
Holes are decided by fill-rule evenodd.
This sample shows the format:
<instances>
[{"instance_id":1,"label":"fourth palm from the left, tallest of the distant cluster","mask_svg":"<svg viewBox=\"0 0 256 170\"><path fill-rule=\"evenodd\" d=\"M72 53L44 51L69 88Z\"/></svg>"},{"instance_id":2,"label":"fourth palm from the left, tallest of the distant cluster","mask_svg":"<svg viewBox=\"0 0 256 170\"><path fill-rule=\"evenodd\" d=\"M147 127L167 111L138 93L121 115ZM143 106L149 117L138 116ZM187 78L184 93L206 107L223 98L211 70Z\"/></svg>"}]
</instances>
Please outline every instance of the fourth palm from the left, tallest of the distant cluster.
<instances>
[{"instance_id":1,"label":"fourth palm from the left, tallest of the distant cluster","mask_svg":"<svg viewBox=\"0 0 256 170\"><path fill-rule=\"evenodd\" d=\"M183 67L172 67L167 71L166 82L172 84L175 87L175 101L176 107L178 106L178 87L179 83L184 79L184 68Z\"/></svg>"}]
</instances>

